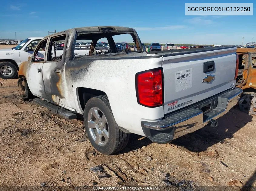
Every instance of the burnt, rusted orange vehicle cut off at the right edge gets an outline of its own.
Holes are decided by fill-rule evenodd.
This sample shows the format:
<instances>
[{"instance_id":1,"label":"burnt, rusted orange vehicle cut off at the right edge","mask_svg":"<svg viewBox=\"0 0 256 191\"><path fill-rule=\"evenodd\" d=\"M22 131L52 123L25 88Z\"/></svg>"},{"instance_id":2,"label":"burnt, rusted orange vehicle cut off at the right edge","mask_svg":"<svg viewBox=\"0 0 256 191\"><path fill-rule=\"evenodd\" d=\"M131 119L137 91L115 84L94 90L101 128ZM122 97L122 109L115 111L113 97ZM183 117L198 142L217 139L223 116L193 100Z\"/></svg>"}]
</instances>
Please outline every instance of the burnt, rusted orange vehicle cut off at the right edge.
<instances>
[{"instance_id":1,"label":"burnt, rusted orange vehicle cut off at the right edge","mask_svg":"<svg viewBox=\"0 0 256 191\"><path fill-rule=\"evenodd\" d=\"M256 114L256 49L238 48L239 58L236 87L243 89L239 102L241 111Z\"/></svg>"}]
</instances>

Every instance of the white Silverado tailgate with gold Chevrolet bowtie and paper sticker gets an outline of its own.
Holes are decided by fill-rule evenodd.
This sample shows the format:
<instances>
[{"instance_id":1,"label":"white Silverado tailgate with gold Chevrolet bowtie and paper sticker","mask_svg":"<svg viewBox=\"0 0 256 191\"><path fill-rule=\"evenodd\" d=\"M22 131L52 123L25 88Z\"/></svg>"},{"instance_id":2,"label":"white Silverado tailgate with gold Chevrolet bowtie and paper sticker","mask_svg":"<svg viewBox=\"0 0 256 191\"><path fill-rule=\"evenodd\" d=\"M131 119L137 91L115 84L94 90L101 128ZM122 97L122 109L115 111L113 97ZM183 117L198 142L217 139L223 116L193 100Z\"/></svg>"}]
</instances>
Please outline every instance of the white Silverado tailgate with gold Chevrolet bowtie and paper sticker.
<instances>
[{"instance_id":1,"label":"white Silverado tailgate with gold Chevrolet bowtie and paper sticker","mask_svg":"<svg viewBox=\"0 0 256 191\"><path fill-rule=\"evenodd\" d=\"M164 55L164 113L173 112L234 87L235 52L236 48L232 47Z\"/></svg>"}]
</instances>

